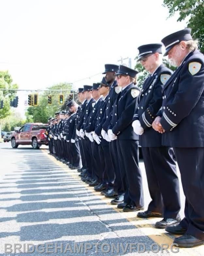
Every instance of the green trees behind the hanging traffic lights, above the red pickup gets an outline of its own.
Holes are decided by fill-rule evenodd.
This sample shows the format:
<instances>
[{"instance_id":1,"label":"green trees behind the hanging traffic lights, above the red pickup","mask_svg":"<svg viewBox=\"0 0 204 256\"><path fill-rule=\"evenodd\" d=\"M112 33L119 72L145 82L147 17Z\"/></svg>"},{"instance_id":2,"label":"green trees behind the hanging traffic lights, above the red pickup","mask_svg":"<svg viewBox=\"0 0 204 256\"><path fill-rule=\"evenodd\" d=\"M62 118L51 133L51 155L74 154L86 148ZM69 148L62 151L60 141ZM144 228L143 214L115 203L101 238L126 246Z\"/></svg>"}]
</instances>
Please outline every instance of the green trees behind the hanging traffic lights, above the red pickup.
<instances>
[{"instance_id":1,"label":"green trees behind the hanging traffic lights, above the red pickup","mask_svg":"<svg viewBox=\"0 0 204 256\"><path fill-rule=\"evenodd\" d=\"M50 89L62 89L62 94L64 94L64 102L68 98L71 91L71 84L60 83L47 88ZM63 92L63 90L69 90ZM38 95L38 106L29 107L25 113L26 122L41 122L47 123L49 117L54 117L55 112L65 109L66 104L59 104L59 94L60 91L45 91L42 95ZM52 95L52 104L48 104L48 95Z\"/></svg>"}]
</instances>

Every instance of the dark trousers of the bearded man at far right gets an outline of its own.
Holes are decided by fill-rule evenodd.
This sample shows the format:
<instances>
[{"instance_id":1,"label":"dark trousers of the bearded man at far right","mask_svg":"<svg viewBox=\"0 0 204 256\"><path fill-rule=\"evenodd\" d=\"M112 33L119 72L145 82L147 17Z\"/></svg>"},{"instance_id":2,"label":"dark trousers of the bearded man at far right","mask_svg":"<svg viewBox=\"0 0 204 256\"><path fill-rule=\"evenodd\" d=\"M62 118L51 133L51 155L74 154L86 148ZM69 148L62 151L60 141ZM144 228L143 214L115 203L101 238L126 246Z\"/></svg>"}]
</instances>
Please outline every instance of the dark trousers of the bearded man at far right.
<instances>
[{"instance_id":1,"label":"dark trousers of the bearded man at far right","mask_svg":"<svg viewBox=\"0 0 204 256\"><path fill-rule=\"evenodd\" d=\"M186 196L185 217L180 225L204 240L204 148L174 148Z\"/></svg>"}]
</instances>

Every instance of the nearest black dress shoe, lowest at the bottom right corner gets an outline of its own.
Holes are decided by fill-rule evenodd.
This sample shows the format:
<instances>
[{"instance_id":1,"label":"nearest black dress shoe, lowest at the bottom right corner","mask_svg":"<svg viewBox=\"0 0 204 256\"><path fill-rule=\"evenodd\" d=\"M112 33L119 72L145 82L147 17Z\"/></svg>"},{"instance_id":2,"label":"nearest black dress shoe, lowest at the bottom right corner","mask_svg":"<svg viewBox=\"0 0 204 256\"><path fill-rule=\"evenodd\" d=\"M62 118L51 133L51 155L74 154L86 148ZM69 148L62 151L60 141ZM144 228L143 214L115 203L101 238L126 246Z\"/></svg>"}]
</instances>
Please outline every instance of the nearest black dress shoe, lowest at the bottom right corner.
<instances>
[{"instance_id":1,"label":"nearest black dress shoe, lowest at the bottom right corner","mask_svg":"<svg viewBox=\"0 0 204 256\"><path fill-rule=\"evenodd\" d=\"M200 240L188 233L185 233L184 235L175 238L173 243L178 244L179 247L190 248L198 245L203 245L204 240Z\"/></svg>"}]
</instances>

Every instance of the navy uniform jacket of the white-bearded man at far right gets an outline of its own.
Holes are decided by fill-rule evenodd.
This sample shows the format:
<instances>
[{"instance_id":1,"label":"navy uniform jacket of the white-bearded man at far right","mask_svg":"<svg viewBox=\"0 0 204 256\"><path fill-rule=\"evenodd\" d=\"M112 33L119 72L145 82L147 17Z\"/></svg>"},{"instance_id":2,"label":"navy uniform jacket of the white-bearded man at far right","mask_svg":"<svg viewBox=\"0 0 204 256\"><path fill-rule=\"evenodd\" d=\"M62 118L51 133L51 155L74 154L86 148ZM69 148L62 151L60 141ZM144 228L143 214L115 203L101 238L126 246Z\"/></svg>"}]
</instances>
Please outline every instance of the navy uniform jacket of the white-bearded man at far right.
<instances>
[{"instance_id":1,"label":"navy uniform jacket of the white-bearded man at far right","mask_svg":"<svg viewBox=\"0 0 204 256\"><path fill-rule=\"evenodd\" d=\"M161 124L163 145L204 147L204 55L190 52L166 82Z\"/></svg>"}]
</instances>

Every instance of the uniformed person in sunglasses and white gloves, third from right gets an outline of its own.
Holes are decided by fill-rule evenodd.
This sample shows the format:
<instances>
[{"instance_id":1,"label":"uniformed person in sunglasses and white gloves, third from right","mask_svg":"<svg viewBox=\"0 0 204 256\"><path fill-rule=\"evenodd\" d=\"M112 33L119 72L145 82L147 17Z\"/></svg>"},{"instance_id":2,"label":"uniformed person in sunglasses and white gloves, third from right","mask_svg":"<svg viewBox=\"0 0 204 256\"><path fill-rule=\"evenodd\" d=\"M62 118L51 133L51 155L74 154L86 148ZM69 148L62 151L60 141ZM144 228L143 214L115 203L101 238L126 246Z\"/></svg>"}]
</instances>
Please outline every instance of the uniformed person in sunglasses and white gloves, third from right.
<instances>
[{"instance_id":1,"label":"uniformed person in sunglasses and white gloves, third from right","mask_svg":"<svg viewBox=\"0 0 204 256\"><path fill-rule=\"evenodd\" d=\"M140 90L135 86L138 72L126 66L119 66L116 73L118 86L122 90L118 93L113 105L112 120L108 130L111 141L117 140L121 180L124 183L124 202L118 204L123 211L143 209L144 198L142 176L138 166L138 135L131 126L133 114L137 106L137 96Z\"/></svg>"}]
</instances>

